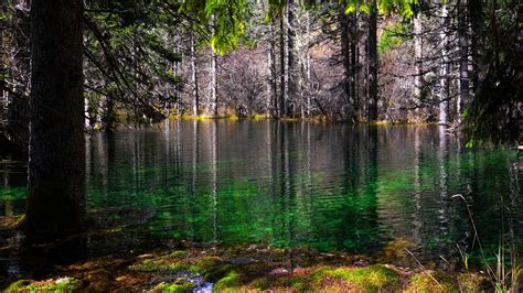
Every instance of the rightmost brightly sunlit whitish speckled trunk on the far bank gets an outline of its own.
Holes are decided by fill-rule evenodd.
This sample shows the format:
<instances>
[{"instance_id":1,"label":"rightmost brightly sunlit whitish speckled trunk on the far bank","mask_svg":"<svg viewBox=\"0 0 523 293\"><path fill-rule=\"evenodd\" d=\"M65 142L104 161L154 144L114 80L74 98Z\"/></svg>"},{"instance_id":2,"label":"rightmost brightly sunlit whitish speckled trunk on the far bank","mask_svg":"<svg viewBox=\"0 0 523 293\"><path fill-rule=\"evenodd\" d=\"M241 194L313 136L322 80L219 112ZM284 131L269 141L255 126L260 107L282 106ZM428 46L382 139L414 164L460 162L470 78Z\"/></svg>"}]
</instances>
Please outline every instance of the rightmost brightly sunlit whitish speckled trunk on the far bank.
<instances>
[{"instance_id":1,"label":"rightmost brightly sunlit whitish speckled trunk on the far bank","mask_svg":"<svg viewBox=\"0 0 523 293\"><path fill-rule=\"evenodd\" d=\"M447 124L448 105L449 105L449 57L448 57L448 7L446 3L441 7L441 65L440 65L440 95L439 95L439 124Z\"/></svg>"}]
</instances>

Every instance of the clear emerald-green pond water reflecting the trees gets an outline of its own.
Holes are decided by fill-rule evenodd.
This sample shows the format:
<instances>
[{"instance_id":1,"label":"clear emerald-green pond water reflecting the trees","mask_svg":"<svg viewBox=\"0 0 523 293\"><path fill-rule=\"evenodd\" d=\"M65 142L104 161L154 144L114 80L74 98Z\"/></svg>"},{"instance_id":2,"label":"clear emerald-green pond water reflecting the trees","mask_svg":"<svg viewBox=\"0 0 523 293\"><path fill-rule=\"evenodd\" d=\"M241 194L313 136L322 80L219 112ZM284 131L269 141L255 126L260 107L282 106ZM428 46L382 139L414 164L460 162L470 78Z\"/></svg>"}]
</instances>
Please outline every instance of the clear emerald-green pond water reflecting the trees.
<instances>
[{"instance_id":1,"label":"clear emerald-green pond water reflecting the trees","mask_svg":"<svg viewBox=\"0 0 523 293\"><path fill-rule=\"evenodd\" d=\"M485 247L503 205L523 236L515 153L462 145L438 127L166 121L87 137L87 205L141 210L143 238L371 253L402 237L438 258L472 242L459 193ZM0 216L23 213L25 176L0 164Z\"/></svg>"}]
</instances>

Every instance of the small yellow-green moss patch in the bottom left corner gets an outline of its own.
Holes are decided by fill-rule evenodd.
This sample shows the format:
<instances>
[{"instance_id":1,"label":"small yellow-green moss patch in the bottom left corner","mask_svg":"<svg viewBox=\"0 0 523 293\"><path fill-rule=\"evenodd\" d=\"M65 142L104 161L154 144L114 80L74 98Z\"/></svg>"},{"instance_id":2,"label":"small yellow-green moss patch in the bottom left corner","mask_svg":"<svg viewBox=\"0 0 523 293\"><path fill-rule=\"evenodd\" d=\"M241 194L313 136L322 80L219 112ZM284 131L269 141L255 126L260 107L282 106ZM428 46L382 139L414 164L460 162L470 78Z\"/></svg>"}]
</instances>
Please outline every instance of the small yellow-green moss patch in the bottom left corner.
<instances>
[{"instance_id":1,"label":"small yellow-green moss patch in the bottom left corner","mask_svg":"<svg viewBox=\"0 0 523 293\"><path fill-rule=\"evenodd\" d=\"M42 282L20 280L12 283L6 292L73 292L82 286L74 278L61 278Z\"/></svg>"}]
</instances>

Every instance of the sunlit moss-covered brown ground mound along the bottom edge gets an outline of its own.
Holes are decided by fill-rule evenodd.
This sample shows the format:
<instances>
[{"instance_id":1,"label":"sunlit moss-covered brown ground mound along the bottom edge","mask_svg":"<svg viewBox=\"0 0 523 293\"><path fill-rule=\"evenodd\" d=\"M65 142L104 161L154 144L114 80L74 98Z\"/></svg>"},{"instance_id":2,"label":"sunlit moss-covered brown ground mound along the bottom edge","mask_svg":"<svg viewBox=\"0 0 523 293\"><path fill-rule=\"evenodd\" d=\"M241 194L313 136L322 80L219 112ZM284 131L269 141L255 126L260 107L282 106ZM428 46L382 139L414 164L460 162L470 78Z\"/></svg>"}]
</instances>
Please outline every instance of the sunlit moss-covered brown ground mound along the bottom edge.
<instances>
[{"instance_id":1,"label":"sunlit moss-covered brown ground mound along the bottom edge","mask_svg":"<svg viewBox=\"0 0 523 293\"><path fill-rule=\"evenodd\" d=\"M256 246L159 251L131 261L94 259L63 267L60 273L67 278L20 280L7 291L478 292L489 285L473 272L448 274L344 253Z\"/></svg>"}]
</instances>

